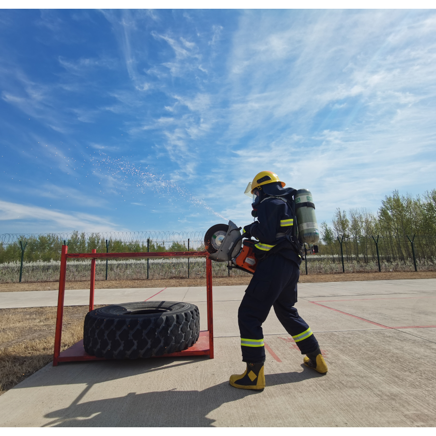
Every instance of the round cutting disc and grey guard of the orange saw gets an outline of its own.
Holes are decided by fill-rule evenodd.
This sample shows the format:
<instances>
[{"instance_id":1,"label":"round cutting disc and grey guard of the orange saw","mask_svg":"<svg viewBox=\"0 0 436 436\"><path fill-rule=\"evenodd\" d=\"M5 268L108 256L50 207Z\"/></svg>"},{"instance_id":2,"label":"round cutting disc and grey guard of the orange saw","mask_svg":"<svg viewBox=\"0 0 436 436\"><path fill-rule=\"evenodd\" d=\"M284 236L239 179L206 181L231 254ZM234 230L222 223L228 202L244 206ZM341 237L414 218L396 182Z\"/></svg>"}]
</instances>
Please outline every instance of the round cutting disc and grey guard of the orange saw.
<instances>
[{"instance_id":1,"label":"round cutting disc and grey guard of the orange saw","mask_svg":"<svg viewBox=\"0 0 436 436\"><path fill-rule=\"evenodd\" d=\"M239 228L233 221L229 224L216 224L212 226L204 236L204 247L210 253L209 258L216 262L228 262L229 250L234 241L241 236ZM233 249L233 259L241 251L242 239L237 242Z\"/></svg>"}]
</instances>

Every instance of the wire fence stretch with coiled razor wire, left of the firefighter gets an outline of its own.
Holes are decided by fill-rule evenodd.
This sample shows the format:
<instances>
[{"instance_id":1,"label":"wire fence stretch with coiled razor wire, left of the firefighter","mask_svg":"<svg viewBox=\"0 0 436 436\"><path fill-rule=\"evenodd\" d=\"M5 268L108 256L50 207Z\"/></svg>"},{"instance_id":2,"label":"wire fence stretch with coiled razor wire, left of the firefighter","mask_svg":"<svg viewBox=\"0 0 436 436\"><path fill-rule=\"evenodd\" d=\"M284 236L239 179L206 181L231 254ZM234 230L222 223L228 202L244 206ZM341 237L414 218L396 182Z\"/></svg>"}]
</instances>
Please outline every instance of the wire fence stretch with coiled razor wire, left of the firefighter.
<instances>
[{"instance_id":1,"label":"wire fence stretch with coiled razor wire, left of the firefighter","mask_svg":"<svg viewBox=\"0 0 436 436\"><path fill-rule=\"evenodd\" d=\"M61 248L69 253L203 251L204 234L199 232L108 232L72 234L0 235L0 282L59 280ZM22 261L21 261L22 259ZM225 263L213 262L214 277L249 275L229 273ZM66 280L89 280L90 260L68 260ZM205 278L202 258L113 259L96 261L96 280Z\"/></svg>"}]
</instances>

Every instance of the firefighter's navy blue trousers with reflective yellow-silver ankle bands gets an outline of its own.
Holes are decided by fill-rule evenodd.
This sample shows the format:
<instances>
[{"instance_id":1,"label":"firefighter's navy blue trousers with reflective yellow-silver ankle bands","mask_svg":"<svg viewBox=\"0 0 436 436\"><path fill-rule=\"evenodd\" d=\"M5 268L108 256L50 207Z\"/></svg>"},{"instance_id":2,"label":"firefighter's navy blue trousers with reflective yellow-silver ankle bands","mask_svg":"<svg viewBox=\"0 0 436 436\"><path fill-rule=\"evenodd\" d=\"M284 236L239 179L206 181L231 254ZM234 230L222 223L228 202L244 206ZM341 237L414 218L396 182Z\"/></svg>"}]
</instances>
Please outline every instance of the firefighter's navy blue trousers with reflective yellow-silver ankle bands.
<instances>
[{"instance_id":1,"label":"firefighter's navy blue trousers with reflective yellow-silver ankle bands","mask_svg":"<svg viewBox=\"0 0 436 436\"><path fill-rule=\"evenodd\" d=\"M258 263L238 311L243 362L265 362L262 324L271 306L301 354L311 353L318 348L315 335L294 307L299 276L298 265L280 253L272 254Z\"/></svg>"}]
</instances>

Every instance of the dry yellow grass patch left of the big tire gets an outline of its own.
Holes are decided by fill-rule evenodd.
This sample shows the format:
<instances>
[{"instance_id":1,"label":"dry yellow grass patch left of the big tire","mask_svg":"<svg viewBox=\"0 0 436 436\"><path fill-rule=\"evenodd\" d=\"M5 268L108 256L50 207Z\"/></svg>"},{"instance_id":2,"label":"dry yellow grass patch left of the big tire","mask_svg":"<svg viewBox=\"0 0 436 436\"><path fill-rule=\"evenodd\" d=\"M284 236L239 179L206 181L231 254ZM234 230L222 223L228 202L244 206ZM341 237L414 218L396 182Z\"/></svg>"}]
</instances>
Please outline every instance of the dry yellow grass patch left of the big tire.
<instances>
[{"instance_id":1,"label":"dry yellow grass patch left of the big tire","mask_svg":"<svg viewBox=\"0 0 436 436\"><path fill-rule=\"evenodd\" d=\"M0 309L0 395L53 359L56 310ZM87 311L88 306L64 308L62 350L82 339Z\"/></svg>"}]
</instances>

